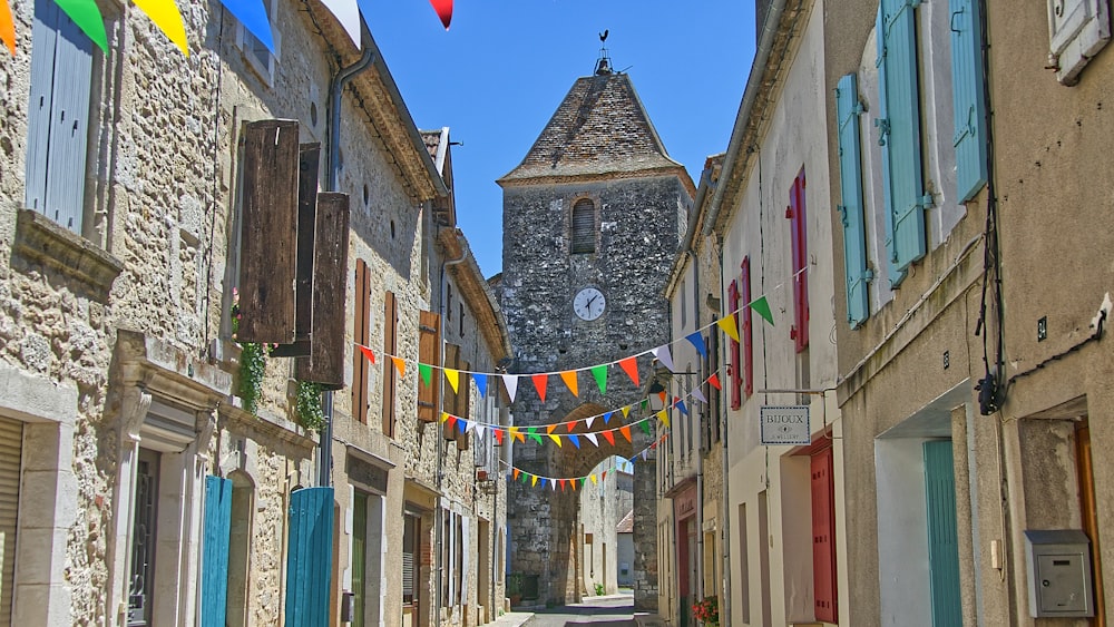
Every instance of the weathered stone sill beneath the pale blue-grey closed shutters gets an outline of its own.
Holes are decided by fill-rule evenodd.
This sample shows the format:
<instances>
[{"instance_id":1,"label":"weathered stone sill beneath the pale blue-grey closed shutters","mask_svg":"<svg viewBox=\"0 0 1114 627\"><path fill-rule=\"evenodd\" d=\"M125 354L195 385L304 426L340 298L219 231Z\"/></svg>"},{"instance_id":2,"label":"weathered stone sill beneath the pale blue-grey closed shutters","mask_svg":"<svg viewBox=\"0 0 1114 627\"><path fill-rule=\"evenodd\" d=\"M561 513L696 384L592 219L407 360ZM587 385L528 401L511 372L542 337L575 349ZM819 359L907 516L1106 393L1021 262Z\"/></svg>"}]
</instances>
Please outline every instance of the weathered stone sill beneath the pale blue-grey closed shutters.
<instances>
[{"instance_id":1,"label":"weathered stone sill beneath the pale blue-grey closed shutters","mask_svg":"<svg viewBox=\"0 0 1114 627\"><path fill-rule=\"evenodd\" d=\"M19 209L16 252L85 283L100 300L107 300L124 263L85 237L62 228L45 215Z\"/></svg>"}]
</instances>

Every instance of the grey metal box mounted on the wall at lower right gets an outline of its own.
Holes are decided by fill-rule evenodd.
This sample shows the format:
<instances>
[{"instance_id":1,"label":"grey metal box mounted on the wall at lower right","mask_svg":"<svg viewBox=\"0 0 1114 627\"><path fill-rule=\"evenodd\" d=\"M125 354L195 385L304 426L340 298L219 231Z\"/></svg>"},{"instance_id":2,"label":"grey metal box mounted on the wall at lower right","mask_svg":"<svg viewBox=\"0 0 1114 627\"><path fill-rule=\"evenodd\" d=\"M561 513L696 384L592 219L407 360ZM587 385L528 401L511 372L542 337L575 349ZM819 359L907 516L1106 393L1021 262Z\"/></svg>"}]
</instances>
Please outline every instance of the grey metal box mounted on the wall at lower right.
<instances>
[{"instance_id":1,"label":"grey metal box mounted on the wall at lower right","mask_svg":"<svg viewBox=\"0 0 1114 627\"><path fill-rule=\"evenodd\" d=\"M1042 617L1095 615L1091 540L1076 529L1025 531L1029 614Z\"/></svg>"}]
</instances>

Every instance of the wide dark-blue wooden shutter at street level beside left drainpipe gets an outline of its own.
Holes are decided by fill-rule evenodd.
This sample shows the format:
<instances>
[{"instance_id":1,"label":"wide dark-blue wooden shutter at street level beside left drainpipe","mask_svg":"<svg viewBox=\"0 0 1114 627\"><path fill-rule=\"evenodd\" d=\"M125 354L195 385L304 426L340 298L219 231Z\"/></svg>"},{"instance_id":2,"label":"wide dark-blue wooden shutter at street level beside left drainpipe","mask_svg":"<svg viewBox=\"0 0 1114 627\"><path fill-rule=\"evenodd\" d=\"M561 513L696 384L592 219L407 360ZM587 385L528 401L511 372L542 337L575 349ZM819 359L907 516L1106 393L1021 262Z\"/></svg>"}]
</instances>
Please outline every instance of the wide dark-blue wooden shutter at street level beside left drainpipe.
<instances>
[{"instance_id":1,"label":"wide dark-blue wooden shutter at street level beside left drainpipe","mask_svg":"<svg viewBox=\"0 0 1114 627\"><path fill-rule=\"evenodd\" d=\"M333 489L303 488L290 496L286 551L286 625L326 627L333 561Z\"/></svg>"}]
</instances>

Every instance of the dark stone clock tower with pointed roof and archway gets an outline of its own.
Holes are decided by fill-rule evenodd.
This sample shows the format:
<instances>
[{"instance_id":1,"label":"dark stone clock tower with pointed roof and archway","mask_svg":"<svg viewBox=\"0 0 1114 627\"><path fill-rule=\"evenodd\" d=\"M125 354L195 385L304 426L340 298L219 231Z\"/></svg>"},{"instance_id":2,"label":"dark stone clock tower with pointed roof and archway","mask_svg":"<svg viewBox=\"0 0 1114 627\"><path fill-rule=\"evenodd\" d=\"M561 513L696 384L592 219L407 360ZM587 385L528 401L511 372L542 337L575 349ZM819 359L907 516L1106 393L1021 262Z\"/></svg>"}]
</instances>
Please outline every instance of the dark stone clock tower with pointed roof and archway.
<instances>
[{"instance_id":1,"label":"dark stone clock tower with pointed roof and archway","mask_svg":"<svg viewBox=\"0 0 1114 627\"><path fill-rule=\"evenodd\" d=\"M602 57L594 76L574 82L522 161L498 180L498 290L515 354L511 373L613 364L670 341L663 292L694 186L666 153L631 78L608 68ZM608 368L606 393L583 376L578 395L550 376L545 400L522 376L515 423L553 424L638 403L653 378L649 355L638 359L638 370L636 386ZM653 442L634 432L633 442L618 439L616 447L517 442L514 463L541 477L584 477L600 461L629 458ZM654 458L639 460L634 472L635 605L649 609L657 602ZM512 482L508 501L510 571L537 577L539 604L578 600L586 588L578 494Z\"/></svg>"}]
</instances>

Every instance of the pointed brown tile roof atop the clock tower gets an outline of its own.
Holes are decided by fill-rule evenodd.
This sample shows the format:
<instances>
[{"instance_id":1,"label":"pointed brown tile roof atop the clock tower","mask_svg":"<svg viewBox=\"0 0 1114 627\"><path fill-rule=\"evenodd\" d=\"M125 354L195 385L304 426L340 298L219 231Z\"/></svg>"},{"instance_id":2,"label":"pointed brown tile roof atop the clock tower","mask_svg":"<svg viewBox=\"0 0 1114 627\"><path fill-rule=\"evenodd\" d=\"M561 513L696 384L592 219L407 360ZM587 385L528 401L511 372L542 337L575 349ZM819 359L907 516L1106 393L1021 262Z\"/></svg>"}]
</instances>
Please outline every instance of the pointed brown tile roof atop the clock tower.
<instances>
[{"instance_id":1,"label":"pointed brown tile roof atop the clock tower","mask_svg":"<svg viewBox=\"0 0 1114 627\"><path fill-rule=\"evenodd\" d=\"M500 185L570 177L676 172L625 74L578 78L522 163Z\"/></svg>"}]
</instances>

